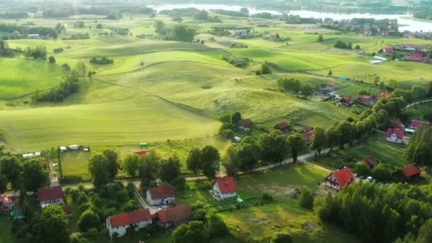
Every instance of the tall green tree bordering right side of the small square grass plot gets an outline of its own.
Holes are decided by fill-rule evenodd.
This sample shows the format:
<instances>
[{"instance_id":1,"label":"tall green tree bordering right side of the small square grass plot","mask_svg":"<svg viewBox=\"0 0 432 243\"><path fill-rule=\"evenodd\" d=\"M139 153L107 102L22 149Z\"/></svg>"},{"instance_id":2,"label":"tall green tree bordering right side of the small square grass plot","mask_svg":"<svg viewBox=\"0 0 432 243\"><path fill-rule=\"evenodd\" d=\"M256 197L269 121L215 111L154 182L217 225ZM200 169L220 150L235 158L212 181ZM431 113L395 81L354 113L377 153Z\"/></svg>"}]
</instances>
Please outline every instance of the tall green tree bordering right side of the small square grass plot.
<instances>
[{"instance_id":1,"label":"tall green tree bordering right side of the small square grass plot","mask_svg":"<svg viewBox=\"0 0 432 243\"><path fill-rule=\"evenodd\" d=\"M107 185L111 180L108 171L109 161L107 157L97 154L90 158L89 172L92 177L93 185L97 190Z\"/></svg>"}]
</instances>

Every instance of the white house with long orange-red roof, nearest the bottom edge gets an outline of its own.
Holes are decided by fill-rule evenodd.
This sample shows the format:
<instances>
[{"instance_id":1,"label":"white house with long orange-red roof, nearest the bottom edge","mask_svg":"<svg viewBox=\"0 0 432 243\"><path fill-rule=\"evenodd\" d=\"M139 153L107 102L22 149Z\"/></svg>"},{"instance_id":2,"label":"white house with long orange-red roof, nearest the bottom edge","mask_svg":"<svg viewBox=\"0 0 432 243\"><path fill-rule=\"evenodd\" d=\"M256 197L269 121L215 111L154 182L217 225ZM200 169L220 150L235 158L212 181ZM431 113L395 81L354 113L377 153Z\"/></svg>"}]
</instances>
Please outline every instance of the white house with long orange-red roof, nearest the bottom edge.
<instances>
[{"instance_id":1,"label":"white house with long orange-red roof, nearest the bottom edge","mask_svg":"<svg viewBox=\"0 0 432 243\"><path fill-rule=\"evenodd\" d=\"M132 225L135 225L135 229L138 230L151 225L152 221L148 208L107 217L109 237L112 239L114 234L116 234L117 237L122 237L126 234L126 229Z\"/></svg>"}]
</instances>

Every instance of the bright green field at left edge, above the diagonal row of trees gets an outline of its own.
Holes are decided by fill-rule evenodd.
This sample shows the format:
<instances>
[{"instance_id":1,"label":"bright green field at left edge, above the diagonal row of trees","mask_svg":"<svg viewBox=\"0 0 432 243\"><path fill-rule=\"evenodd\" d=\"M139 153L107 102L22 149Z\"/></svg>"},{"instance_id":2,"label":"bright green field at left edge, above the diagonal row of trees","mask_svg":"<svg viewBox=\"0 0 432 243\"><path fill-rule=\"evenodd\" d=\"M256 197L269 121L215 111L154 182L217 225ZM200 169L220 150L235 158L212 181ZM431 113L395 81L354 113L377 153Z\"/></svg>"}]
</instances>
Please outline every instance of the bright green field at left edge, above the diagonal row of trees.
<instances>
[{"instance_id":1,"label":"bright green field at left edge, above the diagonal row of trees","mask_svg":"<svg viewBox=\"0 0 432 243\"><path fill-rule=\"evenodd\" d=\"M59 85L62 68L45 60L0 58L0 98L28 95Z\"/></svg>"}]
</instances>

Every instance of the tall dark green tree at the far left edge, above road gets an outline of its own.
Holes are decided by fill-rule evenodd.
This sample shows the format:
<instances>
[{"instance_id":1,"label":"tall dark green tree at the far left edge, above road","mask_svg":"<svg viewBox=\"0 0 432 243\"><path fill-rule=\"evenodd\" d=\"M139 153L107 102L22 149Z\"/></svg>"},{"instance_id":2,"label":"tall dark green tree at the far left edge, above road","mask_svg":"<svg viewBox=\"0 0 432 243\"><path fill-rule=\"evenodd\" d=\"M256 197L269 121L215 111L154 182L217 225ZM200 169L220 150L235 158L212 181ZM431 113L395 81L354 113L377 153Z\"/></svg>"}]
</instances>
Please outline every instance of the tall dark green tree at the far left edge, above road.
<instances>
[{"instance_id":1,"label":"tall dark green tree at the far left edge, above road","mask_svg":"<svg viewBox=\"0 0 432 243\"><path fill-rule=\"evenodd\" d=\"M6 176L13 190L20 189L20 175L22 171L23 166L15 156L0 158L0 173Z\"/></svg>"}]
</instances>

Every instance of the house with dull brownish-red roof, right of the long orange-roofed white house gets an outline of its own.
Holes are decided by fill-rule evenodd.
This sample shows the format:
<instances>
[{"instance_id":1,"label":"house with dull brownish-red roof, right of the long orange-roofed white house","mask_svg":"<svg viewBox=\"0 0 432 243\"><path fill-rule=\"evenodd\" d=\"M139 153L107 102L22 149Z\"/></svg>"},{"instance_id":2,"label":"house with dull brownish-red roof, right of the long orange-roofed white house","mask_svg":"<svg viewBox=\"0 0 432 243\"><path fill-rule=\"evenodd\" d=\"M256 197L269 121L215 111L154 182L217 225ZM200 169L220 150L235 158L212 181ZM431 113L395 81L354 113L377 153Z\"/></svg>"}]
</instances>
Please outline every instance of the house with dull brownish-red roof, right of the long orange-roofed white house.
<instances>
[{"instance_id":1,"label":"house with dull brownish-red roof, right of the long orange-roofed white house","mask_svg":"<svg viewBox=\"0 0 432 243\"><path fill-rule=\"evenodd\" d=\"M186 204L169 207L166 210L156 212L156 214L157 225L164 228L178 227L192 219L192 209Z\"/></svg>"}]
</instances>

